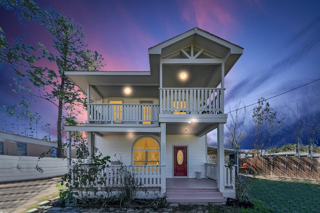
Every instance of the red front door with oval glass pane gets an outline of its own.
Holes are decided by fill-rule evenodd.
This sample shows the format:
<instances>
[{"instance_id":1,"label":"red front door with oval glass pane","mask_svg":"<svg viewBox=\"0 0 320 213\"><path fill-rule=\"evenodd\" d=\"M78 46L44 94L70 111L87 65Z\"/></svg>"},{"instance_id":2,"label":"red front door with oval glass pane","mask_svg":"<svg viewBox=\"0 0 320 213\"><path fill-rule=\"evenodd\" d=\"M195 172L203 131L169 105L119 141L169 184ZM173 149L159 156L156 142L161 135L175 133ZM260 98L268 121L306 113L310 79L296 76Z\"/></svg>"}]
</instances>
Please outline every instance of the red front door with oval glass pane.
<instances>
[{"instance_id":1,"label":"red front door with oval glass pane","mask_svg":"<svg viewBox=\"0 0 320 213\"><path fill-rule=\"evenodd\" d=\"M173 147L174 176L187 176L186 147Z\"/></svg>"}]
</instances>

